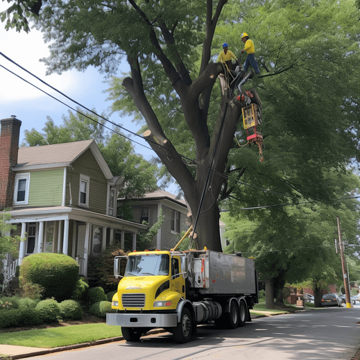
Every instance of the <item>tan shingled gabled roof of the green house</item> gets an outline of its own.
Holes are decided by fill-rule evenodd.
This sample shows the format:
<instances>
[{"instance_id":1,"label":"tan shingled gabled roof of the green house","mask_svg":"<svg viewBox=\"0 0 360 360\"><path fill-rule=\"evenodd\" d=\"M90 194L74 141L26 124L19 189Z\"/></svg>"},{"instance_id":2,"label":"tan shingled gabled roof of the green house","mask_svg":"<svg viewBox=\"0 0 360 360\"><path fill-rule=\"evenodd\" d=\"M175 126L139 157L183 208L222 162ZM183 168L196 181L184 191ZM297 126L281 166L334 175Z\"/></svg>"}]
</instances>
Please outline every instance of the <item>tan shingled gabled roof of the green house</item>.
<instances>
[{"instance_id":1,"label":"tan shingled gabled roof of the green house","mask_svg":"<svg viewBox=\"0 0 360 360\"><path fill-rule=\"evenodd\" d=\"M87 149L92 151L105 178L112 179L109 166L94 140L19 148L17 165L13 166L12 170L28 171L70 166Z\"/></svg>"}]
</instances>

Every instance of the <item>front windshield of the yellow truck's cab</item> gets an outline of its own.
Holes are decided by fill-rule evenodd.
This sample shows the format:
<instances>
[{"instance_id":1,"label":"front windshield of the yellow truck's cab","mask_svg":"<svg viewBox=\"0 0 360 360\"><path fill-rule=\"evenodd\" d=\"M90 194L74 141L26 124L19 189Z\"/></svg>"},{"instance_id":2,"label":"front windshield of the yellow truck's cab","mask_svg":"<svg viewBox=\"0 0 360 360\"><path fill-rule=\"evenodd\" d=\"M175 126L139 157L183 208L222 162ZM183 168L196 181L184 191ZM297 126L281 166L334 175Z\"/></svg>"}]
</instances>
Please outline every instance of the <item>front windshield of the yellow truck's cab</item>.
<instances>
[{"instance_id":1,"label":"front windshield of the yellow truck's cab","mask_svg":"<svg viewBox=\"0 0 360 360\"><path fill-rule=\"evenodd\" d=\"M135 255L128 257L124 276L152 276L169 274L169 255Z\"/></svg>"}]
</instances>

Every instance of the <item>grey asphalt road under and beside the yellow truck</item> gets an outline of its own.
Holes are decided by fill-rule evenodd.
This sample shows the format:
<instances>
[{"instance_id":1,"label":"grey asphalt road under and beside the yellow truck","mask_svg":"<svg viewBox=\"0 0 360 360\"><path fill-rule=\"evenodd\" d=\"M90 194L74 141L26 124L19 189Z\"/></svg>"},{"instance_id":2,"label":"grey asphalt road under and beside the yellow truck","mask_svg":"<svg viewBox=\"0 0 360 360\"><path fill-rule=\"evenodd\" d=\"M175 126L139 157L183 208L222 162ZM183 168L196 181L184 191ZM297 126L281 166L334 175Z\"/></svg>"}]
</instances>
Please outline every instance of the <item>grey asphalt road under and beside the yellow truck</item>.
<instances>
[{"instance_id":1,"label":"grey asphalt road under and beside the yellow truck","mask_svg":"<svg viewBox=\"0 0 360 360\"><path fill-rule=\"evenodd\" d=\"M351 309L331 307L257 318L234 330L200 326L198 338L182 345L164 333L146 336L138 343L119 341L31 359L350 360L360 348L358 322L360 305Z\"/></svg>"}]
</instances>

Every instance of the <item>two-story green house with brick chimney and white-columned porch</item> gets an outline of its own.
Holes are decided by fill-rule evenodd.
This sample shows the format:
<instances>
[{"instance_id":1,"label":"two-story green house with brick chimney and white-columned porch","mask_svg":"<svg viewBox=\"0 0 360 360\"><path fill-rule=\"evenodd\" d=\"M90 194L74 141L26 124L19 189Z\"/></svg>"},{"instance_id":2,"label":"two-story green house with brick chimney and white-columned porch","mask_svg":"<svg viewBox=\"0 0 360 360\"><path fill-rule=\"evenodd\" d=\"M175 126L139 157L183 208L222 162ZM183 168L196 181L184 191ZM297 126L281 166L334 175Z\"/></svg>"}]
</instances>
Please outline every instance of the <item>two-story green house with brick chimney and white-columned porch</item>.
<instances>
[{"instance_id":1,"label":"two-story green house with brick chimney and white-columned porch","mask_svg":"<svg viewBox=\"0 0 360 360\"><path fill-rule=\"evenodd\" d=\"M3 261L5 282L27 255L59 252L74 257L80 275L87 277L89 255L119 241L125 233L136 237L147 227L117 218L117 188L123 178L113 177L94 140L19 148L22 122L1 120L0 211L10 208L16 234L26 241L19 258Z\"/></svg>"}]
</instances>

